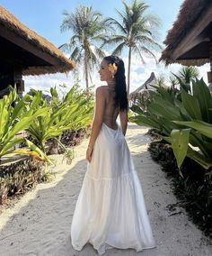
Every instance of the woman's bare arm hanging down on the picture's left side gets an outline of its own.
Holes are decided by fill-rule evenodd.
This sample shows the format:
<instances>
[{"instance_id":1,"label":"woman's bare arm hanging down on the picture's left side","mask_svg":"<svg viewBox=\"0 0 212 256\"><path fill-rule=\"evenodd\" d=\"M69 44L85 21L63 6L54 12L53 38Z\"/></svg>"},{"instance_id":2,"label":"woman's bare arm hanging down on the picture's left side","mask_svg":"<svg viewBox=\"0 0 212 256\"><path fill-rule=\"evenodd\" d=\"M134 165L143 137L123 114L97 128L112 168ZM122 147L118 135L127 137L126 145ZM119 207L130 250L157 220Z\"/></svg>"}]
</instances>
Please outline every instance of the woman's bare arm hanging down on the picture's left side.
<instances>
[{"instance_id":1,"label":"woman's bare arm hanging down on the picture's left side","mask_svg":"<svg viewBox=\"0 0 212 256\"><path fill-rule=\"evenodd\" d=\"M104 107L105 107L105 97L103 94L103 88L98 87L96 89L96 105L95 105L95 116L94 116L93 125L92 125L92 133L91 133L91 138L88 143L88 148L86 151L86 159L89 162L92 160L93 146L98 134L100 133L100 129L102 127Z\"/></svg>"}]
</instances>

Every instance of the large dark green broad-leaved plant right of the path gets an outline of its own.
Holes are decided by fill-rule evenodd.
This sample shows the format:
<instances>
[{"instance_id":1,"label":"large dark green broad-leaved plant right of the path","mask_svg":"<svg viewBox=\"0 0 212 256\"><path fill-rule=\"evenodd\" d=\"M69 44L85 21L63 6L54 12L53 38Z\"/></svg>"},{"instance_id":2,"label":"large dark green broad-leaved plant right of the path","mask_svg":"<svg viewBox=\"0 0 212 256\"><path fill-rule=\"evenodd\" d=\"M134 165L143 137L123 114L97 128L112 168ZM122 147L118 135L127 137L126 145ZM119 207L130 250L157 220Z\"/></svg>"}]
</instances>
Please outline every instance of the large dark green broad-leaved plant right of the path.
<instances>
[{"instance_id":1,"label":"large dark green broad-leaved plant right of the path","mask_svg":"<svg viewBox=\"0 0 212 256\"><path fill-rule=\"evenodd\" d=\"M137 116L131 121L155 128L172 144L180 169L186 156L205 169L212 167L212 96L202 79L192 82L193 95L183 88L181 100L163 87L150 92L152 102L144 112L133 105Z\"/></svg>"}]
</instances>

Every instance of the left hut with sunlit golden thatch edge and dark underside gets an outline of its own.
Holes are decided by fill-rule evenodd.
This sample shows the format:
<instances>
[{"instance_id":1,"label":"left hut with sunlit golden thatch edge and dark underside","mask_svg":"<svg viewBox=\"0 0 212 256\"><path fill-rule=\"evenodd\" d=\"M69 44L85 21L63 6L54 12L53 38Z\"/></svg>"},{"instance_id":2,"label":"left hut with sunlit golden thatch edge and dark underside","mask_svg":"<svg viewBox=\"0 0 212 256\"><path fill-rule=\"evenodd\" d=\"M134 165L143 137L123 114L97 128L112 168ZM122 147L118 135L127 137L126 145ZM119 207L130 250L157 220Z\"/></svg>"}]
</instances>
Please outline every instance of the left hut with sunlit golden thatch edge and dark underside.
<instances>
[{"instance_id":1,"label":"left hut with sunlit golden thatch edge and dark underside","mask_svg":"<svg viewBox=\"0 0 212 256\"><path fill-rule=\"evenodd\" d=\"M64 73L75 62L0 6L0 91L8 85L22 90L22 75Z\"/></svg>"}]
</instances>

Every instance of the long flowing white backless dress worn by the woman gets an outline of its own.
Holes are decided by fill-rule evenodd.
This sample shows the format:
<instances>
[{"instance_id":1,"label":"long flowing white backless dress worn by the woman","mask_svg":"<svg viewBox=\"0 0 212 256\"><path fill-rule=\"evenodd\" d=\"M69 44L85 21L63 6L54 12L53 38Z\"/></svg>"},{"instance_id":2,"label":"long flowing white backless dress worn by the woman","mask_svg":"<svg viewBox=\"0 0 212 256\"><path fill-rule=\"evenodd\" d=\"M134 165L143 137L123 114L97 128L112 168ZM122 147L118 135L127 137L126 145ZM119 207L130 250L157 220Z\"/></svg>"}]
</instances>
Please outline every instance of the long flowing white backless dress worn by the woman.
<instances>
[{"instance_id":1,"label":"long flowing white backless dress worn by the woman","mask_svg":"<svg viewBox=\"0 0 212 256\"><path fill-rule=\"evenodd\" d=\"M119 124L114 130L102 123L75 205L71 239L75 250L91 243L100 255L111 248L142 251L156 246L142 187Z\"/></svg>"}]
</instances>

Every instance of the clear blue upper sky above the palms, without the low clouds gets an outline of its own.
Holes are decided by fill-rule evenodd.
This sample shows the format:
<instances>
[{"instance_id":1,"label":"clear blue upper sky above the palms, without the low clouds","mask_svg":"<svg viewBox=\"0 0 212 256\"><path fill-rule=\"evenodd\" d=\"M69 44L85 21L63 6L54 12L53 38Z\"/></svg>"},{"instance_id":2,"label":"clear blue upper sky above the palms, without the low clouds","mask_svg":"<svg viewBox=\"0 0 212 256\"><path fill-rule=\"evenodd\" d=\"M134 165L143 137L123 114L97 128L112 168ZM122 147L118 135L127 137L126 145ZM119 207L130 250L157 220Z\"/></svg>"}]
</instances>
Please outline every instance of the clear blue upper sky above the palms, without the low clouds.
<instances>
[{"instance_id":1,"label":"clear blue upper sky above the palms, without the low clouds","mask_svg":"<svg viewBox=\"0 0 212 256\"><path fill-rule=\"evenodd\" d=\"M104 16L117 17L115 9L120 10L123 6L121 0L3 0L0 3L31 30L38 32L56 46L69 38L68 32L61 33L59 30L64 10L72 12L77 5L92 5L94 10L99 10ZM127 3L130 2L127 1ZM150 12L157 14L162 20L161 39L163 41L166 31L172 27L179 12L181 0L146 0L146 4L150 5Z\"/></svg>"}]
</instances>

